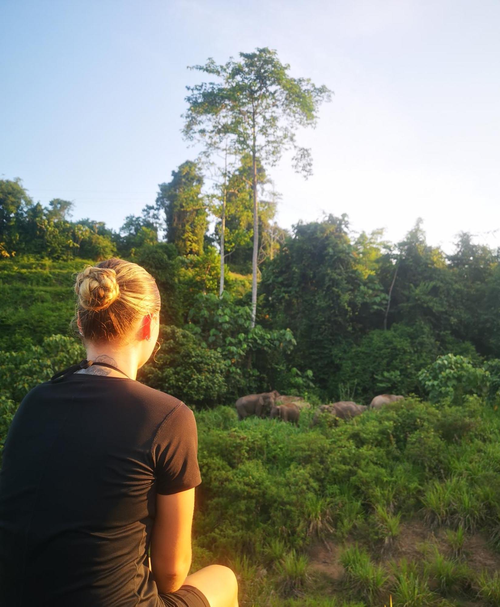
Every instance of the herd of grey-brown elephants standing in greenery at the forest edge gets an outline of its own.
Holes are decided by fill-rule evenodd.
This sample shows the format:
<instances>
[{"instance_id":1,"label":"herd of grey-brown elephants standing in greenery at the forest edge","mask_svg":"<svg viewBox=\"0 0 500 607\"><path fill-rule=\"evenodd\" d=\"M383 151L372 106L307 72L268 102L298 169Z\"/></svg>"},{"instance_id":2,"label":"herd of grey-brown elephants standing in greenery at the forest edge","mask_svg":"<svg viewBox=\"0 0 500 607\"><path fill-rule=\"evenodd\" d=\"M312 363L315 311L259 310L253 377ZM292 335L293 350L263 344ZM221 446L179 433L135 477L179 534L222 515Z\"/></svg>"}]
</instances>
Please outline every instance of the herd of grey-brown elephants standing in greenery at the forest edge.
<instances>
[{"instance_id":1,"label":"herd of grey-brown elephants standing in greenery at the forest edge","mask_svg":"<svg viewBox=\"0 0 500 607\"><path fill-rule=\"evenodd\" d=\"M370 405L358 405L353 401L333 402L329 405L320 405L317 409L312 426L315 426L322 415L329 415L340 419L351 419L360 415L367 409L380 409L389 402L400 401L404 396L395 394L380 394L375 396ZM311 405L299 396L283 396L277 390L263 392L262 394L249 394L238 398L235 404L238 419L242 420L249 415L258 417L269 416L271 419L278 418L293 424L299 423L300 410L309 409Z\"/></svg>"}]
</instances>

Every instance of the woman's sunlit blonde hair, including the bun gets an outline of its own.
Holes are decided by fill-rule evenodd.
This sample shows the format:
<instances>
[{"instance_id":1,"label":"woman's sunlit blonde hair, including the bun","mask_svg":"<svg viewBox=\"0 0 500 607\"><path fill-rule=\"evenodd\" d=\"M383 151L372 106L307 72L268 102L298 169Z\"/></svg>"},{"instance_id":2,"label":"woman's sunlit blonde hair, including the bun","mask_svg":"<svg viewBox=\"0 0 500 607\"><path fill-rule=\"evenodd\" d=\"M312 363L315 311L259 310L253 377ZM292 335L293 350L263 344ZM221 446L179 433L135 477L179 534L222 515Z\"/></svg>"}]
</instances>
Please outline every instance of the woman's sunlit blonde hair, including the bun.
<instances>
[{"instance_id":1,"label":"woman's sunlit blonde hair, including the bun","mask_svg":"<svg viewBox=\"0 0 500 607\"><path fill-rule=\"evenodd\" d=\"M83 339L120 342L143 316L160 312L155 279L137 263L117 257L86 266L76 276L73 327L79 313Z\"/></svg>"}]
</instances>

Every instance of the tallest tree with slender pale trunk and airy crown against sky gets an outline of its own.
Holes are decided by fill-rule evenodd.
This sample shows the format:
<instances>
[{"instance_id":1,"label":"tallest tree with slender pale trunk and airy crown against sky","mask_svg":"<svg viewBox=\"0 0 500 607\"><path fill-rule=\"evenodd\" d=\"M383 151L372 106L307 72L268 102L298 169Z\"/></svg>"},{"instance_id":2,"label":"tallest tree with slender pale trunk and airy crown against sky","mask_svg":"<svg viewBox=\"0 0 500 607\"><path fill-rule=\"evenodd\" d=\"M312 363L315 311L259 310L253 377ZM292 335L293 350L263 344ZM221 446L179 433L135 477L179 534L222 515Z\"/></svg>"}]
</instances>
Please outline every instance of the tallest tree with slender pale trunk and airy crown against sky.
<instances>
[{"instance_id":1,"label":"tallest tree with slender pale trunk and airy crown against sky","mask_svg":"<svg viewBox=\"0 0 500 607\"><path fill-rule=\"evenodd\" d=\"M314 126L320 103L331 96L326 86L316 87L308 78L289 76L289 67L268 48L240 53L240 61L230 57L223 65L209 58L204 66L190 69L215 75L221 81L186 87L189 108L184 115L184 136L203 141L209 150L218 150L223 142L229 142L238 155L249 153L252 157L252 327L257 311L257 158L273 166L285 150L292 148L294 169L308 177L311 153L297 145L296 130Z\"/></svg>"}]
</instances>

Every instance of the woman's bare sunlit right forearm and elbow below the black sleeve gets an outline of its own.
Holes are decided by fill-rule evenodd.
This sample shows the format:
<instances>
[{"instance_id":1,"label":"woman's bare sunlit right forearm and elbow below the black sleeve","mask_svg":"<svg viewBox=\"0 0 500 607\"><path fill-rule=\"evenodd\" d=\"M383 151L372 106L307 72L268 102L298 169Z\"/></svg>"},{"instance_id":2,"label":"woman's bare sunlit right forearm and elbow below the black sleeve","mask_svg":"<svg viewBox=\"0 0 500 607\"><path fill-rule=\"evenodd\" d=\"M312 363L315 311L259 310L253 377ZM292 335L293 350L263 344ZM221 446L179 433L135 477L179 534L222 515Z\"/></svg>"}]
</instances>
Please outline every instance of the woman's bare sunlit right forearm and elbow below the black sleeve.
<instances>
[{"instance_id":1,"label":"woman's bare sunlit right forearm and elbow below the black sleeve","mask_svg":"<svg viewBox=\"0 0 500 607\"><path fill-rule=\"evenodd\" d=\"M158 592L175 592L191 567L191 526L194 489L157 495L151 534L151 569Z\"/></svg>"}]
</instances>

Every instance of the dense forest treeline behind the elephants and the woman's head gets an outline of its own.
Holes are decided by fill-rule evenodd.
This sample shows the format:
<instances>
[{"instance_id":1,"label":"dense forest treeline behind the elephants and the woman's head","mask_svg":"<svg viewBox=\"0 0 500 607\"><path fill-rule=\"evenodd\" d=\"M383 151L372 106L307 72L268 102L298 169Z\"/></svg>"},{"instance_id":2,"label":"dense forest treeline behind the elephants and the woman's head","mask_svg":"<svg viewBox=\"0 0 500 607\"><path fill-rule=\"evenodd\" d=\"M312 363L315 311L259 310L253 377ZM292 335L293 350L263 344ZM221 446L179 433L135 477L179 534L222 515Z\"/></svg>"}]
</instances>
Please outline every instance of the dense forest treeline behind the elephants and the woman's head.
<instances>
[{"instance_id":1,"label":"dense forest treeline behind the elephants and the woman's head","mask_svg":"<svg viewBox=\"0 0 500 607\"><path fill-rule=\"evenodd\" d=\"M29 304L29 293L14 291L35 288L29 268L36 260L78 270L80 259L120 256L154 274L162 294L163 344L144 378L191 404L231 402L274 388L322 401L365 402L381 392L427 396L418 374L437 356L459 354L476 367L500 358L498 250L462 232L454 252L445 254L427 243L421 220L398 243L387 242L382 231L352 232L346 215L299 222L288 232L275 222L275 202L266 195L252 327L249 171L243 157L231 178L225 217L230 271L221 296L221 219L200 164L186 161L172 171L155 202L126 217L118 231L98 220L70 219L69 201L56 198L44 207L21 181L0 181L0 271L2 284L10 284L0 317L2 349L67 334L68 271L66 282L50 265L44 279L38 275L47 286L61 279L67 287L61 311L47 301L52 331L40 322L40 311L31 321L29 308L8 305L9 293ZM263 169L260 179L265 192Z\"/></svg>"}]
</instances>

